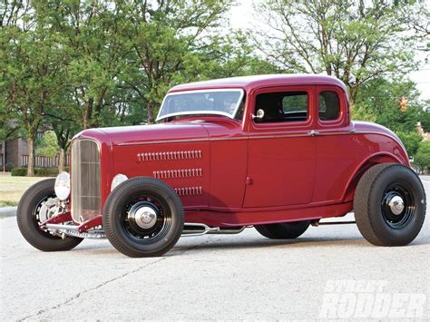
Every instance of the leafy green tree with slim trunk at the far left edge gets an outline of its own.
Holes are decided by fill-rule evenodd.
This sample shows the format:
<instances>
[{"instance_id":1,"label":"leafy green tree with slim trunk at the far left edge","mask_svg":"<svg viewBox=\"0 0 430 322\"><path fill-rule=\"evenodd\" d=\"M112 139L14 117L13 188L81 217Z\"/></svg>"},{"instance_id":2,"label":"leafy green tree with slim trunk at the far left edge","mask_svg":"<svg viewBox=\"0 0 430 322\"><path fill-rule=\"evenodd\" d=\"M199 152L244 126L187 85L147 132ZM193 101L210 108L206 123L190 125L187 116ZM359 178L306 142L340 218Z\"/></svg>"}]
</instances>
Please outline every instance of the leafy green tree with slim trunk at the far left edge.
<instances>
[{"instance_id":1,"label":"leafy green tree with slim trunk at the far left edge","mask_svg":"<svg viewBox=\"0 0 430 322\"><path fill-rule=\"evenodd\" d=\"M64 53L59 34L50 32L43 10L28 2L6 6L0 29L0 86L3 109L14 113L22 125L29 148L27 175L34 175L34 141L44 110L61 95L64 84ZM5 18L9 17L9 18ZM10 18L13 17L13 18Z\"/></svg>"}]
</instances>

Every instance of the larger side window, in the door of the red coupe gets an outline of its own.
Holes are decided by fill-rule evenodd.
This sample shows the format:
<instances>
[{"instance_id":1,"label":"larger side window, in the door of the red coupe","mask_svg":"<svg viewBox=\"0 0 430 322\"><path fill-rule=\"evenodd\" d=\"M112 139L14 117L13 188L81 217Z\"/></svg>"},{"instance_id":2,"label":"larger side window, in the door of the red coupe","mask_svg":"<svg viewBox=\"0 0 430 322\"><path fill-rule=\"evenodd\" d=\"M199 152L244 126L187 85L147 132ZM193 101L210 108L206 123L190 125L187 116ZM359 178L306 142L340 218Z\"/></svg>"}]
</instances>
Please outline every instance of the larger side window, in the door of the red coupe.
<instances>
[{"instance_id":1,"label":"larger side window, in the door of the red coupe","mask_svg":"<svg viewBox=\"0 0 430 322\"><path fill-rule=\"evenodd\" d=\"M298 122L308 120L307 92L262 93L257 95L255 111L264 117L256 122Z\"/></svg>"}]
</instances>

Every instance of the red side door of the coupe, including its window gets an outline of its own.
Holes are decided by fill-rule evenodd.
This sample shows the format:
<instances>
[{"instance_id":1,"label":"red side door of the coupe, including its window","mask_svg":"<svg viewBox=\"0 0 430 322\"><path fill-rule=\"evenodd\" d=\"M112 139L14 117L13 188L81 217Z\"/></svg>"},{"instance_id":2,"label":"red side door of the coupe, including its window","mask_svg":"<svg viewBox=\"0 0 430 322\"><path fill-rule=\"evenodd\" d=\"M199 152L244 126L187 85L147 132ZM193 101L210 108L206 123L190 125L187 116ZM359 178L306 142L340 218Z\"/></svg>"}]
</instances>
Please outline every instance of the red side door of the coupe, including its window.
<instances>
[{"instance_id":1,"label":"red side door of the coupe, including its window","mask_svg":"<svg viewBox=\"0 0 430 322\"><path fill-rule=\"evenodd\" d=\"M315 112L313 86L259 90L252 95L249 122L248 178L244 207L311 202L317 140L311 132Z\"/></svg>"}]
</instances>

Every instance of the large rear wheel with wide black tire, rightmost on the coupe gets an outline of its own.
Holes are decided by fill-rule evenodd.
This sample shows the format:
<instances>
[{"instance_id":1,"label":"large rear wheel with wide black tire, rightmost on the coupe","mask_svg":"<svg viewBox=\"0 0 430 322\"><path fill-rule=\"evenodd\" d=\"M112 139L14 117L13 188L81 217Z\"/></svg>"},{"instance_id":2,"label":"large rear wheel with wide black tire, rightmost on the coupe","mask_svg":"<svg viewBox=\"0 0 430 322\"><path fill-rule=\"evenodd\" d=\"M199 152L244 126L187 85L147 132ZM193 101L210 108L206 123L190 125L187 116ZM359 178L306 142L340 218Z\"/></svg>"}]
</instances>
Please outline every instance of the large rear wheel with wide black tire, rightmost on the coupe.
<instances>
[{"instance_id":1,"label":"large rear wheel with wide black tire, rightmost on the coupe","mask_svg":"<svg viewBox=\"0 0 430 322\"><path fill-rule=\"evenodd\" d=\"M354 196L357 227L376 246L405 246L425 220L425 190L411 169L378 164L365 172Z\"/></svg>"}]
</instances>

